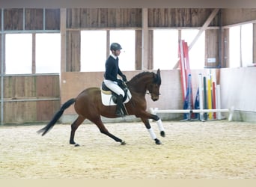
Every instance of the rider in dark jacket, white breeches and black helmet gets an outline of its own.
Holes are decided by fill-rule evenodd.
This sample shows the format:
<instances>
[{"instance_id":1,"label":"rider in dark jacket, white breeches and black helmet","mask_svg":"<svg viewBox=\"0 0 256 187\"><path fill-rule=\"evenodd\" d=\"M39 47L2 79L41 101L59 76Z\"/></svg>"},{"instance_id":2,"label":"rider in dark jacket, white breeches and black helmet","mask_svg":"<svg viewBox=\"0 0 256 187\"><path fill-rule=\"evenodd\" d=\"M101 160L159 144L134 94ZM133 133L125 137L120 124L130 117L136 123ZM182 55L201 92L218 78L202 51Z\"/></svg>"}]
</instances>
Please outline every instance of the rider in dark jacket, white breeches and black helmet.
<instances>
[{"instance_id":1,"label":"rider in dark jacket, white breeches and black helmet","mask_svg":"<svg viewBox=\"0 0 256 187\"><path fill-rule=\"evenodd\" d=\"M110 51L112 53L109 55L109 58L106 59L106 71L104 74L104 83L106 87L118 94L117 109L115 112L117 117L123 116L121 107L124 99L124 91L119 86L122 85L123 82L121 79L118 79L118 75L122 77L124 82L127 82L127 77L121 72L118 66L118 56L121 53L121 49L122 47L119 43L112 43L110 45Z\"/></svg>"}]
</instances>

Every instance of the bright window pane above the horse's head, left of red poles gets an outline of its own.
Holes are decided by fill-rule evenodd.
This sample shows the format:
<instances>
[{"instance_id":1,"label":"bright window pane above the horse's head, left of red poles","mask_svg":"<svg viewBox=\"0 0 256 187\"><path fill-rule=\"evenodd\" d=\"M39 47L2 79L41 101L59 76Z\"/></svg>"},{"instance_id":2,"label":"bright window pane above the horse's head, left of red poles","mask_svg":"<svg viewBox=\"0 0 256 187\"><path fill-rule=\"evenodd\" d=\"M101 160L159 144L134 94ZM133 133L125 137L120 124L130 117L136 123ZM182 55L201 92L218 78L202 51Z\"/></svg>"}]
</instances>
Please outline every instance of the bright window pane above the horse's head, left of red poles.
<instances>
[{"instance_id":1,"label":"bright window pane above the horse's head, left of red poles","mask_svg":"<svg viewBox=\"0 0 256 187\"><path fill-rule=\"evenodd\" d=\"M172 70L178 61L178 31L153 31L153 69Z\"/></svg>"}]
</instances>

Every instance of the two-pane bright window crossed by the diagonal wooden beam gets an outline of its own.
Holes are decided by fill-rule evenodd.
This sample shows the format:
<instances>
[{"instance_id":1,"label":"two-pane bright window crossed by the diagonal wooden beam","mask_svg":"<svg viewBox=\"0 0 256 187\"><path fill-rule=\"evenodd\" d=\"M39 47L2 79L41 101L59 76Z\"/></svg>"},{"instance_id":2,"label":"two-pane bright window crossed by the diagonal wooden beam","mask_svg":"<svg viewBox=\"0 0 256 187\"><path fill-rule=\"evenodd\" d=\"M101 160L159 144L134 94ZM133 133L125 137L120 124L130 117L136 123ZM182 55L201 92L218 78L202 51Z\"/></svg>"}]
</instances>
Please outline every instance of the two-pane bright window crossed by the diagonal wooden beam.
<instances>
[{"instance_id":1,"label":"two-pane bright window crossed by the diagonal wooden beam","mask_svg":"<svg viewBox=\"0 0 256 187\"><path fill-rule=\"evenodd\" d=\"M198 34L197 29L183 29L181 40L192 43ZM189 50L189 65L191 69L204 68L204 32L198 38L192 49ZM178 61L178 30L153 31L153 68L171 70Z\"/></svg>"}]
</instances>

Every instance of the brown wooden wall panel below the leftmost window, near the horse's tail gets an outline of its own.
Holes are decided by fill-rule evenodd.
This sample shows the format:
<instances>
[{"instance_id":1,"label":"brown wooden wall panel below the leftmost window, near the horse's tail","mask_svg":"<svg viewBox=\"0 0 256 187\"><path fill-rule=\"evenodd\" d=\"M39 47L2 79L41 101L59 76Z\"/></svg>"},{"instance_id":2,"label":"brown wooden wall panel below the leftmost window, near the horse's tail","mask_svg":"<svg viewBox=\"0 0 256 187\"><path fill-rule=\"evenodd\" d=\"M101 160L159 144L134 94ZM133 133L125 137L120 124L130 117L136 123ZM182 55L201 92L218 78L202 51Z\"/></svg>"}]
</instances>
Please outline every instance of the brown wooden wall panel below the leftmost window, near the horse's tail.
<instances>
[{"instance_id":1,"label":"brown wooden wall panel below the leftmost window, near the horse's tail","mask_svg":"<svg viewBox=\"0 0 256 187\"><path fill-rule=\"evenodd\" d=\"M60 107L59 76L5 76L4 123L43 122Z\"/></svg>"}]
</instances>

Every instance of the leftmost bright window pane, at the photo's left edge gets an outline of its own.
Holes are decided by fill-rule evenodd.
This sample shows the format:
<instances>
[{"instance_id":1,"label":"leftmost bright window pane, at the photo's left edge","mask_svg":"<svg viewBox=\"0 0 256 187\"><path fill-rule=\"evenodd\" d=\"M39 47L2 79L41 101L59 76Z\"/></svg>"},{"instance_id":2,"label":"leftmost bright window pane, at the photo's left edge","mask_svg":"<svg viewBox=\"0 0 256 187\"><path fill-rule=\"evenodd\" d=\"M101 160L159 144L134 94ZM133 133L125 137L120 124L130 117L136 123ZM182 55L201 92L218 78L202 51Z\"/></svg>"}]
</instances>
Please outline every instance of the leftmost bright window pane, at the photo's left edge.
<instances>
[{"instance_id":1,"label":"leftmost bright window pane, at the photo's left edge","mask_svg":"<svg viewBox=\"0 0 256 187\"><path fill-rule=\"evenodd\" d=\"M5 73L32 72L32 34L5 35Z\"/></svg>"}]
</instances>

